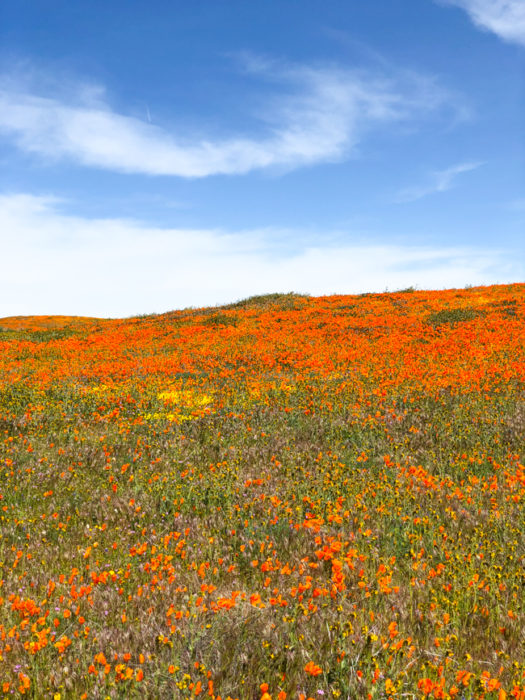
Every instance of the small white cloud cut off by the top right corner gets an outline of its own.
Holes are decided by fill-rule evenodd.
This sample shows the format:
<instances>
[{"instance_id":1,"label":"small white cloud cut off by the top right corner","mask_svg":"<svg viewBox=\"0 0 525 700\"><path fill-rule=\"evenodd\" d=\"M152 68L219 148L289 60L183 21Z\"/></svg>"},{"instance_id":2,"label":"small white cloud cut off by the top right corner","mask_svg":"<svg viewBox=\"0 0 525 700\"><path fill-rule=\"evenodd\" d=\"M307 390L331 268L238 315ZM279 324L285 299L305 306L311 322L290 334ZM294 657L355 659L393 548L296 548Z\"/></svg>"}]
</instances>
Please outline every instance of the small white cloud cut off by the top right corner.
<instances>
[{"instance_id":1,"label":"small white cloud cut off by the top right corner","mask_svg":"<svg viewBox=\"0 0 525 700\"><path fill-rule=\"evenodd\" d=\"M525 46L524 0L444 0L463 8L478 27Z\"/></svg>"}]
</instances>

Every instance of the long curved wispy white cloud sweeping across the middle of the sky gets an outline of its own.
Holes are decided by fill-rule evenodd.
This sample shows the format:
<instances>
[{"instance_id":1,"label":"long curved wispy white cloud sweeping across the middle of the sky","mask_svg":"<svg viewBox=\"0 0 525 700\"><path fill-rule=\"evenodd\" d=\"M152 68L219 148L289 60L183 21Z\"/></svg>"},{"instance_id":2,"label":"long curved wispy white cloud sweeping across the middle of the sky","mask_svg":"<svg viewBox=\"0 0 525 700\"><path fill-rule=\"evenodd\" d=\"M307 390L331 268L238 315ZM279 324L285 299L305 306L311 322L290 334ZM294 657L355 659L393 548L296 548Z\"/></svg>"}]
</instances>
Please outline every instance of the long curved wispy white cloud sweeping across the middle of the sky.
<instances>
[{"instance_id":1,"label":"long curved wispy white cloud sweeping across the middle of the sky","mask_svg":"<svg viewBox=\"0 0 525 700\"><path fill-rule=\"evenodd\" d=\"M79 86L75 94L57 96L6 79L0 79L0 136L50 162L199 178L337 161L374 127L412 122L447 107L461 111L432 78L416 74L385 77L333 66L265 69L262 62L248 71L278 88L264 93L267 109L249 137L195 135L184 125L167 129L115 111L103 89Z\"/></svg>"}]
</instances>

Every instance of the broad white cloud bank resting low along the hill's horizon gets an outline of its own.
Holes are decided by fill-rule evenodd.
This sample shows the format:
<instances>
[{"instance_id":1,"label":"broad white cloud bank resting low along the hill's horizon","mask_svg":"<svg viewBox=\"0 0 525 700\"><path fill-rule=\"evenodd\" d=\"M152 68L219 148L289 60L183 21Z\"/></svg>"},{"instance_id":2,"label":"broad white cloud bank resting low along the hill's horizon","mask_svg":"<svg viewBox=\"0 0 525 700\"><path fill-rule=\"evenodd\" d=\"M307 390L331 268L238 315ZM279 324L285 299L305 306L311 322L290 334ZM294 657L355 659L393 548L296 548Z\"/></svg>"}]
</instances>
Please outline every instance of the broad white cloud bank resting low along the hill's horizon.
<instances>
[{"instance_id":1,"label":"broad white cloud bank resting low along the hill's horizon","mask_svg":"<svg viewBox=\"0 0 525 700\"><path fill-rule=\"evenodd\" d=\"M525 276L519 258L503 250L352 245L341 243L339 232L324 247L283 252L276 234L297 240L297 231L163 229L71 216L60 206L49 197L0 196L0 245L8 261L0 317L129 316L265 292L463 287Z\"/></svg>"}]
</instances>

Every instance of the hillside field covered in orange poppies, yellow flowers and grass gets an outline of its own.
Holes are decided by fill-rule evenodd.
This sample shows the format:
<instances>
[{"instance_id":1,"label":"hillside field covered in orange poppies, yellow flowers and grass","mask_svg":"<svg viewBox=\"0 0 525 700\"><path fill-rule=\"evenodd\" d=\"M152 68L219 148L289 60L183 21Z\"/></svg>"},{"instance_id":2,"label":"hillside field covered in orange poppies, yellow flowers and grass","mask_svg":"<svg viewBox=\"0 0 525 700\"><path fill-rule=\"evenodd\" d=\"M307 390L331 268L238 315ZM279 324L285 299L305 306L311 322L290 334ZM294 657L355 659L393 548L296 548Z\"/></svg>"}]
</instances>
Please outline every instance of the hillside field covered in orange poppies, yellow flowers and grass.
<instances>
[{"instance_id":1,"label":"hillside field covered in orange poppies, yellow flowers and grass","mask_svg":"<svg viewBox=\"0 0 525 700\"><path fill-rule=\"evenodd\" d=\"M0 320L0 697L525 698L525 284Z\"/></svg>"}]
</instances>

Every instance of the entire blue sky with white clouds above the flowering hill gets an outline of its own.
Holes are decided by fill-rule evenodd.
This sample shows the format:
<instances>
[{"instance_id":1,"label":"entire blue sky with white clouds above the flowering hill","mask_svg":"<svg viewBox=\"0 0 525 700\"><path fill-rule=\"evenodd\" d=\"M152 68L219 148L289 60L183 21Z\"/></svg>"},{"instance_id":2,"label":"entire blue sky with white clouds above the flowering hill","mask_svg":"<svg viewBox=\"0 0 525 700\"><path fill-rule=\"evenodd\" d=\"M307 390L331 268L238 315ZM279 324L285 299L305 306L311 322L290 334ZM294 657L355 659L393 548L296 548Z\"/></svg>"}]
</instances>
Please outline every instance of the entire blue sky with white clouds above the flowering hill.
<instances>
[{"instance_id":1,"label":"entire blue sky with white clouds above the flowering hill","mask_svg":"<svg viewBox=\"0 0 525 700\"><path fill-rule=\"evenodd\" d=\"M524 0L4 0L0 316L525 280Z\"/></svg>"}]
</instances>

